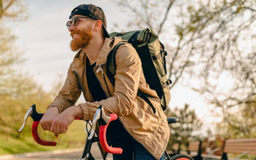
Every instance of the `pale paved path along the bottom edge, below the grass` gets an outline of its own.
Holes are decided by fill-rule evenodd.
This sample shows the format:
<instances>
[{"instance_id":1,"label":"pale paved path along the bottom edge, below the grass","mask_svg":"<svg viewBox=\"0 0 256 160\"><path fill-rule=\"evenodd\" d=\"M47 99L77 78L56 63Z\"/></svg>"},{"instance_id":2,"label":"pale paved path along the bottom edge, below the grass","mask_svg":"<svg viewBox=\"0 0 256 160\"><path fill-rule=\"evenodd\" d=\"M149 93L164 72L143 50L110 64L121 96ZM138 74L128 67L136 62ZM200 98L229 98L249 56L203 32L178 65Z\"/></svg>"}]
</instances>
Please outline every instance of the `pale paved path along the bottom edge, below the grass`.
<instances>
[{"instance_id":1,"label":"pale paved path along the bottom edge, below the grass","mask_svg":"<svg viewBox=\"0 0 256 160\"><path fill-rule=\"evenodd\" d=\"M54 150L45 152L32 152L24 154L3 155L0 160L76 160L81 158L83 148ZM92 144L91 153L96 160L102 160L100 149L96 143ZM108 160L113 160L112 155L109 154Z\"/></svg>"}]
</instances>

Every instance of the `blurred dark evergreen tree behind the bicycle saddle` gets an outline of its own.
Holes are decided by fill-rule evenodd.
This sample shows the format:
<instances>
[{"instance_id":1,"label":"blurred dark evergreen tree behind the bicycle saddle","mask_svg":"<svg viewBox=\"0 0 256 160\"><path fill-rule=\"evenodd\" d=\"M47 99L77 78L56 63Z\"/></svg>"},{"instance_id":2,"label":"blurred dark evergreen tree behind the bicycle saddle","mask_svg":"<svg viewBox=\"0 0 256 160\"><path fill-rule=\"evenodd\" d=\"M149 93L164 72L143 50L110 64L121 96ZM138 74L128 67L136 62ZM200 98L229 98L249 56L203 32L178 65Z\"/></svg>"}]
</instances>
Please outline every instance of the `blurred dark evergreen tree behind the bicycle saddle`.
<instances>
[{"instance_id":1,"label":"blurred dark evergreen tree behind the bicycle saddle","mask_svg":"<svg viewBox=\"0 0 256 160\"><path fill-rule=\"evenodd\" d=\"M167 116L179 118L178 123L171 124L169 144L178 142L188 147L189 141L200 139L193 132L198 131L202 126L202 121L196 116L195 110L190 110L189 105L185 104L184 108L174 108L166 111Z\"/></svg>"}]
</instances>

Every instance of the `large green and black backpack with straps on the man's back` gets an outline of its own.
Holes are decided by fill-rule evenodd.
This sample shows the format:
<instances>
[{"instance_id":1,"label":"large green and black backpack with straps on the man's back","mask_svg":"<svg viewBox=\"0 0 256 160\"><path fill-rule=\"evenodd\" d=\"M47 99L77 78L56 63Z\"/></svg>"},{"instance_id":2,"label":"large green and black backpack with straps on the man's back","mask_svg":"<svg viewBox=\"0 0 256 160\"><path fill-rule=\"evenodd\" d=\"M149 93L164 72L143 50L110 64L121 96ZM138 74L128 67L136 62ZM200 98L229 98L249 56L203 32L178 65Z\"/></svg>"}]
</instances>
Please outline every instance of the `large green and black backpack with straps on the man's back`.
<instances>
[{"instance_id":1,"label":"large green and black backpack with straps on the man's back","mask_svg":"<svg viewBox=\"0 0 256 160\"><path fill-rule=\"evenodd\" d=\"M151 89L156 91L160 98L160 100L157 100L161 103L162 109L165 110L171 99L170 88L168 85L171 84L172 81L167 79L165 62L167 52L164 51L164 45L159 41L158 36L148 28L125 33L113 32L109 35L111 37L121 36L122 39L127 40L128 43L132 44L136 49L142 63L146 83ZM119 42L108 55L107 75L113 85L115 84L114 76L116 75L116 51L125 43L127 42ZM157 101L156 98L154 99L154 97L143 93L140 90L137 95L150 105L154 113L156 112L154 106L148 100L151 99Z\"/></svg>"}]
</instances>

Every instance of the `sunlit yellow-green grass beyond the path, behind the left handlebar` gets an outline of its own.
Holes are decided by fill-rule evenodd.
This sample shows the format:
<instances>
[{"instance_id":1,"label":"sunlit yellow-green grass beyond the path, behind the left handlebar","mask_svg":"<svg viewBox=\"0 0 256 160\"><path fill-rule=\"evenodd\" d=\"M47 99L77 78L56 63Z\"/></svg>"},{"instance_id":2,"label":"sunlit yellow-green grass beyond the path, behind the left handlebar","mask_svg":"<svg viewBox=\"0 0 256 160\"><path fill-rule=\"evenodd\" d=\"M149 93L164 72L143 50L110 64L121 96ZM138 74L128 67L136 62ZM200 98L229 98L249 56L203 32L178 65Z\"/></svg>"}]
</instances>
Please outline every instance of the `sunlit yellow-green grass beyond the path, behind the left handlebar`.
<instances>
[{"instance_id":1,"label":"sunlit yellow-green grass beyond the path, behind the left handlebar","mask_svg":"<svg viewBox=\"0 0 256 160\"><path fill-rule=\"evenodd\" d=\"M57 146L55 147L37 144L31 133L22 134L21 132L19 139L7 136L6 134L0 134L0 155L84 147L87 137L85 124L86 122L84 121L76 120L68 126L68 132L60 134L58 139L47 139L56 141ZM38 127L39 136L41 132L48 132L39 128L40 126ZM49 132L49 134L53 133Z\"/></svg>"}]
</instances>

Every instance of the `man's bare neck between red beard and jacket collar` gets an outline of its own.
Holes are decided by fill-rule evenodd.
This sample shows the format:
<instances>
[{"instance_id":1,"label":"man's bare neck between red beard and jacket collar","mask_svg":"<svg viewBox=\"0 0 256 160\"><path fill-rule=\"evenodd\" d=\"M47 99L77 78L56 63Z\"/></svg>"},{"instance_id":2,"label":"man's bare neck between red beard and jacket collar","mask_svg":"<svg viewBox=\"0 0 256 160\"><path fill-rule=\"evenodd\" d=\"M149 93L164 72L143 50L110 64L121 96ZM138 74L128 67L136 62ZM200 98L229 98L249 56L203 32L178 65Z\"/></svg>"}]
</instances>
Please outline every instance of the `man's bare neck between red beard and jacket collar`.
<instances>
[{"instance_id":1,"label":"man's bare neck between red beard and jacket collar","mask_svg":"<svg viewBox=\"0 0 256 160\"><path fill-rule=\"evenodd\" d=\"M102 45L104 44L103 38L93 38L86 47L84 47L84 51L88 60L90 61L90 65L94 64L99 56Z\"/></svg>"}]
</instances>

